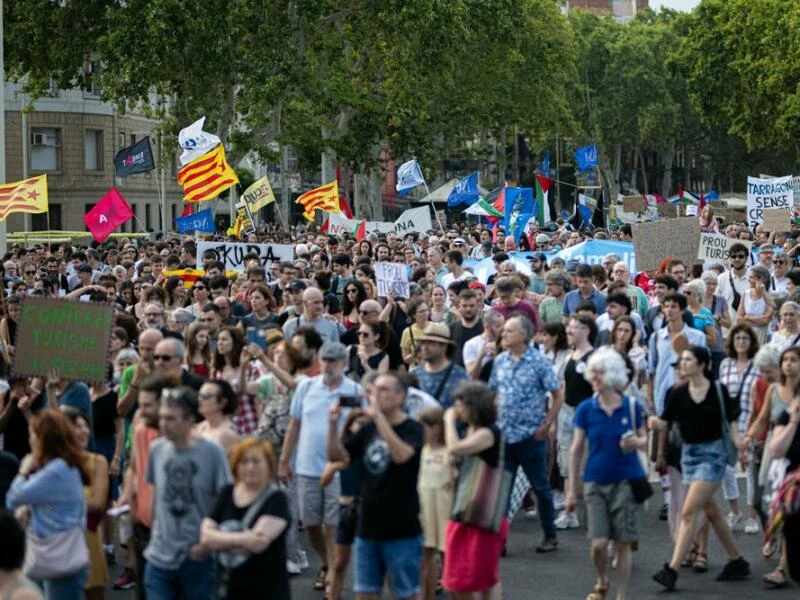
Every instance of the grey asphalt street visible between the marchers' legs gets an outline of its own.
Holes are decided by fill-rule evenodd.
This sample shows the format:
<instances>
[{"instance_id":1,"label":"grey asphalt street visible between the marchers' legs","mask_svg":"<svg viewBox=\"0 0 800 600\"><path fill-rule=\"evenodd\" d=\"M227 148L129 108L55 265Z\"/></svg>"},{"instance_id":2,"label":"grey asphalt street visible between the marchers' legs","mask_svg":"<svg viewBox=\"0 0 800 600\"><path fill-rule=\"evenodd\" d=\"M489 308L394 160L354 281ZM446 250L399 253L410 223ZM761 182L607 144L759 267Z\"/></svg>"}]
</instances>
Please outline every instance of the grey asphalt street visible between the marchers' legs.
<instances>
[{"instance_id":1,"label":"grey asphalt street visible between the marchers' legs","mask_svg":"<svg viewBox=\"0 0 800 600\"><path fill-rule=\"evenodd\" d=\"M660 498L656 491L655 499ZM651 581L650 576L669 557L671 544L667 534L667 524L657 517L657 502L651 502L649 512L644 516L641 530L640 550L634 554L633 573L631 575L631 600L648 600L665 597L659 586ZM727 511L726 511L727 512ZM534 547L541 538L538 520L518 517L511 528L508 544L508 557L500 563L503 581L503 597L507 600L517 599L583 599L591 591L594 584L594 569L589 559L589 544L582 529L561 532L558 552L550 555L537 555ZM719 543L711 534L710 570L698 575L691 570L683 570L678 580L678 590L666 597L702 598L703 600L738 600L750 598L769 598L784 600L798 598L798 588L792 585L786 590L769 590L760 581L762 574L775 568L776 561L766 561L760 554L760 535L738 533L737 539L742 544L743 554L750 561L753 577L749 581L734 583L718 583L714 580L716 573L722 568L724 556ZM311 553L309 552L311 558ZM292 592L295 600L321 600L322 594L312 589L314 579L312 569L292 579ZM114 570L116 574L118 569ZM348 582L348 586L350 582ZM132 592L112 592L110 598L132 598ZM259 596L254 595L254 598ZM264 599L269 598L265 593ZM349 588L345 598L351 598ZM444 598L444 596L440 596ZM610 596L613 598L613 595Z\"/></svg>"}]
</instances>

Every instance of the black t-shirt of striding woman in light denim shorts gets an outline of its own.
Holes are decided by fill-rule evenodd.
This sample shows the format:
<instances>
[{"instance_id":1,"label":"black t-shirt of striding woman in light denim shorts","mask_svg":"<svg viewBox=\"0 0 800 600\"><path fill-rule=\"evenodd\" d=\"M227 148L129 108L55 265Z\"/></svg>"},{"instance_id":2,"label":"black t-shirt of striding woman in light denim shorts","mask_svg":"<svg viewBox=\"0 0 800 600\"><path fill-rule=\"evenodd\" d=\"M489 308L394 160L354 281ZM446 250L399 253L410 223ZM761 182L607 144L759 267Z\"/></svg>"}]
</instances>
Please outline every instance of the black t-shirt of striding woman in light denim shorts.
<instances>
[{"instance_id":1,"label":"black t-shirt of striding woman in light denim shorts","mask_svg":"<svg viewBox=\"0 0 800 600\"><path fill-rule=\"evenodd\" d=\"M725 403L725 413L729 423L739 418L742 407L736 398L728 395L724 385L722 399ZM712 383L702 402L695 402L689 395L689 384L678 385L667 392L664 412L661 418L665 421L677 421L681 437L687 444L702 444L722 439L722 415L720 414L717 386ZM736 427L732 425L731 427Z\"/></svg>"}]
</instances>

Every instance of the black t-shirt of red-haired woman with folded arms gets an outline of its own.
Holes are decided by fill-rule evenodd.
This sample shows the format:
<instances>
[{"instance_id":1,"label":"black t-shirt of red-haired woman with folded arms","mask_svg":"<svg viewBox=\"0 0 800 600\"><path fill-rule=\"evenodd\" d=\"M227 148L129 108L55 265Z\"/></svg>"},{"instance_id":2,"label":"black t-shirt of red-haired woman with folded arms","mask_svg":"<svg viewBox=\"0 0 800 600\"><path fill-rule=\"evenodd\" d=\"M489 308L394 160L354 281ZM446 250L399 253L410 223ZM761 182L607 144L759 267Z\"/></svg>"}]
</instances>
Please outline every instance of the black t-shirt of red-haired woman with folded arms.
<instances>
[{"instance_id":1,"label":"black t-shirt of red-haired woman with folded arms","mask_svg":"<svg viewBox=\"0 0 800 600\"><path fill-rule=\"evenodd\" d=\"M220 492L209 518L218 524L224 521L241 521L247 513L247 506L236 506L233 502L233 486L229 485ZM284 519L287 528L260 554L251 555L240 567L231 571L228 598L250 598L255 590L269 589L270 600L289 600L289 574L286 572L286 532L292 526L289 515L289 501L281 491L274 492L267 498L258 515L253 519L251 527L263 515L271 515Z\"/></svg>"}]
</instances>

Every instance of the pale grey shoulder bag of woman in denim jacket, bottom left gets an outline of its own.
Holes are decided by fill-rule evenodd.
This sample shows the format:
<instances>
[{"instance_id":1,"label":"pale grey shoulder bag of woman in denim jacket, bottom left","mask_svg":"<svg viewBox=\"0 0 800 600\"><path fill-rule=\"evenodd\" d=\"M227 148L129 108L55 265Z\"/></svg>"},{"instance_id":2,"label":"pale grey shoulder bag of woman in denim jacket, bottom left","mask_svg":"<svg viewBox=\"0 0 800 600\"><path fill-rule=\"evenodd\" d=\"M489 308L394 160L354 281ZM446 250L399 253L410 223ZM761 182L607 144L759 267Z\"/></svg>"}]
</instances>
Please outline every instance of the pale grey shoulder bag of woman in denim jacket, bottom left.
<instances>
[{"instance_id":1,"label":"pale grey shoulder bag of woman in denim jacket, bottom left","mask_svg":"<svg viewBox=\"0 0 800 600\"><path fill-rule=\"evenodd\" d=\"M89 550L81 527L42 538L28 527L22 572L34 580L60 579L89 566Z\"/></svg>"}]
</instances>

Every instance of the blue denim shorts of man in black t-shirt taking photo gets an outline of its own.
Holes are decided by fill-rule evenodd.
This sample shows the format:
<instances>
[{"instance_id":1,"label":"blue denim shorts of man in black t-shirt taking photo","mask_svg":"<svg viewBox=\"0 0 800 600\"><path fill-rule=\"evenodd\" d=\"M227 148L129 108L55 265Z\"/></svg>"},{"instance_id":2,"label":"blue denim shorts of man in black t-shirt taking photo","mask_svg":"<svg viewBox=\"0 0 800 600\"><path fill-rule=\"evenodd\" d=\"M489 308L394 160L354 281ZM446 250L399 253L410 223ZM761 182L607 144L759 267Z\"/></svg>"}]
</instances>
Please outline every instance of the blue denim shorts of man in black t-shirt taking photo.
<instances>
[{"instance_id":1,"label":"blue denim shorts of man in black t-shirt taking photo","mask_svg":"<svg viewBox=\"0 0 800 600\"><path fill-rule=\"evenodd\" d=\"M422 536L400 540L370 540L356 537L356 594L380 594L387 577L394 597L413 598L419 593Z\"/></svg>"}]
</instances>

